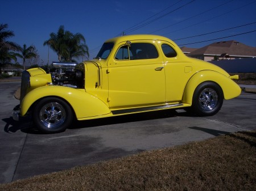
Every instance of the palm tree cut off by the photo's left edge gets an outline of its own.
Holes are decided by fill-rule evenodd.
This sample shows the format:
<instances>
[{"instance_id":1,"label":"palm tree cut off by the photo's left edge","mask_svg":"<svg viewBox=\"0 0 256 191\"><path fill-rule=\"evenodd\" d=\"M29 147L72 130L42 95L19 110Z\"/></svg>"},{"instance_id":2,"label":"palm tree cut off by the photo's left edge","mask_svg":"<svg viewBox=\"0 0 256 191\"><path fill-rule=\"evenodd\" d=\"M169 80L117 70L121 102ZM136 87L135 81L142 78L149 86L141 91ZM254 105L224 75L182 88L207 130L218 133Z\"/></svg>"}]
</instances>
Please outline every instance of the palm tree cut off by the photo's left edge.
<instances>
[{"instance_id":1,"label":"palm tree cut off by the photo's left edge","mask_svg":"<svg viewBox=\"0 0 256 191\"><path fill-rule=\"evenodd\" d=\"M7 28L8 24L0 25L0 74L2 67L10 64L11 60L16 61L15 53L11 50L20 50L18 44L7 40L14 36L14 32L6 30Z\"/></svg>"}]
</instances>

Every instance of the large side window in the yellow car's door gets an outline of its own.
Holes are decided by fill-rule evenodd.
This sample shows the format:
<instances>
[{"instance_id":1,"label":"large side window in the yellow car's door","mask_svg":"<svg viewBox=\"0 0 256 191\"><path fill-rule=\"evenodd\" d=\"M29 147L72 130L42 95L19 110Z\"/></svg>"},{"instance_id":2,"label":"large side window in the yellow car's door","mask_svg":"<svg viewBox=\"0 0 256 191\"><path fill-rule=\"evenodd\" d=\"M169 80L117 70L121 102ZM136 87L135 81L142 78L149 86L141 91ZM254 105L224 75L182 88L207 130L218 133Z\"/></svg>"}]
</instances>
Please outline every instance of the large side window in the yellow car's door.
<instances>
[{"instance_id":1,"label":"large side window in the yellow car's door","mask_svg":"<svg viewBox=\"0 0 256 191\"><path fill-rule=\"evenodd\" d=\"M115 54L115 60L142 60L158 58L158 50L150 43L131 43L121 46Z\"/></svg>"}]
</instances>

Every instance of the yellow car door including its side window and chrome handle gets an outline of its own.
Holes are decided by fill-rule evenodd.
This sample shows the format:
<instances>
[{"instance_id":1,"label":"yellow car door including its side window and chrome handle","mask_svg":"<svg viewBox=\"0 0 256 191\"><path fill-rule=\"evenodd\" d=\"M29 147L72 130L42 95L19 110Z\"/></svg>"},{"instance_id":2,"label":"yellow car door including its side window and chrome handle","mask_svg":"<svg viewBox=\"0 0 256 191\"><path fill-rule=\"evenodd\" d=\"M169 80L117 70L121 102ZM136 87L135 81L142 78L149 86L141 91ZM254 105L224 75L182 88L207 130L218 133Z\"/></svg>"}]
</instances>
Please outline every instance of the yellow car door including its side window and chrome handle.
<instances>
[{"instance_id":1,"label":"yellow car door including its side window and chrome handle","mask_svg":"<svg viewBox=\"0 0 256 191\"><path fill-rule=\"evenodd\" d=\"M110 108L164 103L164 65L154 43L123 43L113 54L108 63Z\"/></svg>"}]
</instances>

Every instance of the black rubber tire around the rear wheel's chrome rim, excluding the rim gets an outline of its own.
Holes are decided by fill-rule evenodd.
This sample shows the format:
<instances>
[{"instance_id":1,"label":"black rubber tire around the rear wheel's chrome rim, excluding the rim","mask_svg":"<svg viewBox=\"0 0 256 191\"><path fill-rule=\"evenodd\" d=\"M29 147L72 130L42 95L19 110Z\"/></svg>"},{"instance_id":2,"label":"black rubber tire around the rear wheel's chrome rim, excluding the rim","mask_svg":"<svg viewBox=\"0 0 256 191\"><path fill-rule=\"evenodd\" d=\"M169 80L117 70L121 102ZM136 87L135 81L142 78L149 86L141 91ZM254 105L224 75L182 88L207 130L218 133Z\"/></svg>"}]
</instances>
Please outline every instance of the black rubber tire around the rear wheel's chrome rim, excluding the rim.
<instances>
[{"instance_id":1,"label":"black rubber tire around the rear wheel's chrome rim, excluding the rim","mask_svg":"<svg viewBox=\"0 0 256 191\"><path fill-rule=\"evenodd\" d=\"M212 109L210 111L205 111L204 109L202 109L200 107L200 104L199 104L199 96L205 88L212 88L214 91L216 91L216 93L218 95L217 105L214 109ZM194 92L193 100L192 100L192 110L199 116L213 116L218 111L220 111L220 109L222 107L223 99L224 99L223 92L222 92L221 87L218 86L218 84L216 84L214 82L203 82L203 83L199 84L199 86L197 86L197 88Z\"/></svg>"}]
</instances>

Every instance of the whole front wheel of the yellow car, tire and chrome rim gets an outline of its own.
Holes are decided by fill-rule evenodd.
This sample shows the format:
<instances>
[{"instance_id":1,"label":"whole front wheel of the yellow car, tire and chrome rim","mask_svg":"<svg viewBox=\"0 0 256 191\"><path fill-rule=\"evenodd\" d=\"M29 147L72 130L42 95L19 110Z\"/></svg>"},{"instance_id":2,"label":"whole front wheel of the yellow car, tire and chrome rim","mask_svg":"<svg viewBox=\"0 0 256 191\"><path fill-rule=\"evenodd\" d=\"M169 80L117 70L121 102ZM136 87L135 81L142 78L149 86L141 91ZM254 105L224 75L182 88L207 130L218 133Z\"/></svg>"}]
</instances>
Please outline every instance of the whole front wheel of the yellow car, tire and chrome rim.
<instances>
[{"instance_id":1,"label":"whole front wheel of the yellow car, tire and chrome rim","mask_svg":"<svg viewBox=\"0 0 256 191\"><path fill-rule=\"evenodd\" d=\"M33 120L43 133L65 131L73 121L73 112L69 105L56 97L47 97L36 103Z\"/></svg>"}]
</instances>

